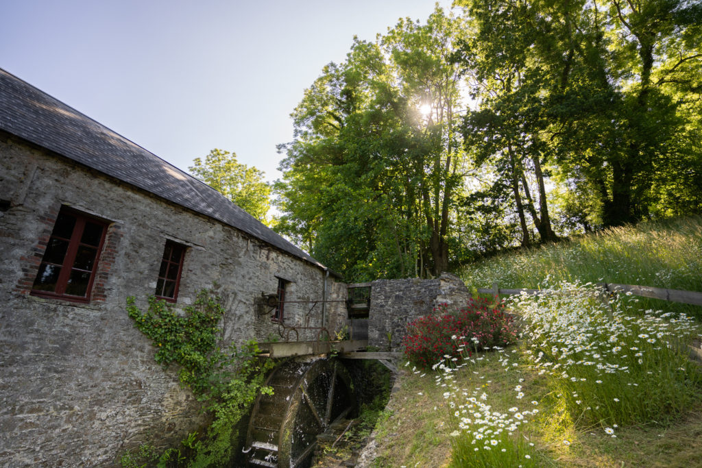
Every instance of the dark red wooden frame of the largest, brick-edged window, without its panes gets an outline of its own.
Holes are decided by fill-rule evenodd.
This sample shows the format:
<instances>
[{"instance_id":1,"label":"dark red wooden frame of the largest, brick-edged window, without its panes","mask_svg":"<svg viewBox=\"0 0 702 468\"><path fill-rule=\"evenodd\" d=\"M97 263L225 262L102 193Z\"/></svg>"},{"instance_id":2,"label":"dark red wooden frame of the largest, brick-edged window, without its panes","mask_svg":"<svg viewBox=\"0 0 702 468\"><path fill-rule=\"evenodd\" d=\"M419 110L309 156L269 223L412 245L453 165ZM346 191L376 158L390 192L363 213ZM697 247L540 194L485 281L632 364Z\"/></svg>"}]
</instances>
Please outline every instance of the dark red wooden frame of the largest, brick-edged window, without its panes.
<instances>
[{"instance_id":1,"label":"dark red wooden frame of the largest, brick-edged window, without its panes","mask_svg":"<svg viewBox=\"0 0 702 468\"><path fill-rule=\"evenodd\" d=\"M67 232L61 232L62 229L67 227L67 225L64 224L66 218L75 219L69 236L63 235L67 234ZM102 229L97 245L84 242L83 238L85 228L88 223L90 225L97 225ZM34 279L34 285L32 286L32 291L30 294L38 297L69 300L72 302L90 302L90 295L91 291L93 290L93 283L95 282L95 273L98 271L100 254L102 253L102 247L105 245L105 236L107 236L107 226L109 224L110 222L101 220L100 218L95 218L91 215L86 215L86 213L82 213L81 211L62 207L58 213L53 231L51 232L51 236L49 237L49 241L44 250L44 256L41 258L39 271ZM57 260L56 258L47 258L51 257L51 255L60 255L58 252L63 250L62 248L53 250L53 246L60 245L60 243L67 243L63 258L61 260ZM86 267L81 268L80 265L77 265L77 262L86 260L85 257L77 258L79 250L81 249L81 255L85 255L87 250L95 249L91 269L87 269ZM39 281L40 276L43 272L45 273L49 267L60 269L58 278L55 281L53 290L41 289L41 282ZM76 295L66 292L71 282L73 272L77 272L78 274L89 274L88 283L83 295Z\"/></svg>"}]
</instances>

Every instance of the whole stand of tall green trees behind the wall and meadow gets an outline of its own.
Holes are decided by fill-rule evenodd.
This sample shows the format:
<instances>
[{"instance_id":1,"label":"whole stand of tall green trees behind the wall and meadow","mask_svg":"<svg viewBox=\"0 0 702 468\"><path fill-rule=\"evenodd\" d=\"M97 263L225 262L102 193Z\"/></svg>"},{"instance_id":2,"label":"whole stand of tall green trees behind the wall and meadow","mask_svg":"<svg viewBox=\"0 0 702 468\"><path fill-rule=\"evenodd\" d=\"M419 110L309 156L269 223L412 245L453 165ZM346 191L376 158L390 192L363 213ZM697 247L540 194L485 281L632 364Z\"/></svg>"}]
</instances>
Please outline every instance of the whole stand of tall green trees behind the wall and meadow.
<instances>
[{"instance_id":1,"label":"whole stand of tall green trees behind the wall and meadow","mask_svg":"<svg viewBox=\"0 0 702 468\"><path fill-rule=\"evenodd\" d=\"M356 39L305 90L279 232L367 281L702 213L695 2L456 4Z\"/></svg>"}]
</instances>

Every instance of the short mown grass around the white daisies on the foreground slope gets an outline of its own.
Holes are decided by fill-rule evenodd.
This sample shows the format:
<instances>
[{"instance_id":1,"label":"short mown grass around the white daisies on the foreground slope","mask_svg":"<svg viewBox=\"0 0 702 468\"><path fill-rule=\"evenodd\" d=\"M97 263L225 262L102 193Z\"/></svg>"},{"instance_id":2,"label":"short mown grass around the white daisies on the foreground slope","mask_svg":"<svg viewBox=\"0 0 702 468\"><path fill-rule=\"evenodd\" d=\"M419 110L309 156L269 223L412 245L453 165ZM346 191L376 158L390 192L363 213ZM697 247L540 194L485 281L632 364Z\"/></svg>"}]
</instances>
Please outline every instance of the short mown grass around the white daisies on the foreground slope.
<instances>
[{"instance_id":1,"label":"short mown grass around the white daisies on the foreground slope","mask_svg":"<svg viewBox=\"0 0 702 468\"><path fill-rule=\"evenodd\" d=\"M486 353L486 356L488 359L481 365L458 370L456 380L462 387L490 392L491 405L503 412L515 405L515 394L510 390L516 385L524 389L521 401L539 401L541 412L524 426L523 433L535 444L533 460L538 466L702 466L702 405L699 403L673 422L619 428L618 437L612 439L603 434L601 427L576 427L565 408L548 397L549 389L538 378L538 373L524 366L505 372L494 354ZM435 385L435 374L420 375L422 373L413 373L411 367L402 370L399 390L376 424L378 449L373 467L452 466L455 438L450 434L458 428L458 421L444 399L445 387ZM520 384L519 379L524 381ZM565 446L564 440L569 440L571 445Z\"/></svg>"}]
</instances>

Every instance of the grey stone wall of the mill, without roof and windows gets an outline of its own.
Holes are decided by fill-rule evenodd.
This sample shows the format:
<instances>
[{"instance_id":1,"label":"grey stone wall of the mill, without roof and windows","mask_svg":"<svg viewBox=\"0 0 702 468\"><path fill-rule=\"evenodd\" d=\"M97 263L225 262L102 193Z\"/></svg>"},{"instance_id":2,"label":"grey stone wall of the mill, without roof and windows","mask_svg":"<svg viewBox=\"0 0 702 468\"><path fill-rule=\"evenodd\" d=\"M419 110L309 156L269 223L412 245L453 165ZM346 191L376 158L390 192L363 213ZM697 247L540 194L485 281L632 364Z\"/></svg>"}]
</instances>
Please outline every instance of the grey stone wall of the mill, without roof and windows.
<instances>
[{"instance_id":1,"label":"grey stone wall of the mill, without roof and windows","mask_svg":"<svg viewBox=\"0 0 702 468\"><path fill-rule=\"evenodd\" d=\"M0 137L0 187L0 465L114 464L126 448L177 443L205 422L125 311L126 297L145 308L154 294L167 239L188 246L176 308L218 284L226 340L277 333L255 305L277 277L291 281L287 300L322 298L319 267L12 138ZM89 304L29 295L62 206L110 220ZM326 288L345 299L333 277ZM307 309L286 305L286 321L304 324ZM325 313L330 328L346 323L343 302Z\"/></svg>"}]
</instances>

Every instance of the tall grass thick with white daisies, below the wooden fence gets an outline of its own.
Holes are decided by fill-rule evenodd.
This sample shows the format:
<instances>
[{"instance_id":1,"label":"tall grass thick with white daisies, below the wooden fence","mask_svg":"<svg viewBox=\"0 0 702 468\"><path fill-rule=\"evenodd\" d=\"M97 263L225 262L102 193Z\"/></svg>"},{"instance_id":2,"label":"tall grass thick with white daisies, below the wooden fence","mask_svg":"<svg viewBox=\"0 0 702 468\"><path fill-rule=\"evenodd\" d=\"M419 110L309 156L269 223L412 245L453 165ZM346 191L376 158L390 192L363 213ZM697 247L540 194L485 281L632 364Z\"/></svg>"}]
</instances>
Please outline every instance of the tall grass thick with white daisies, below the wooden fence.
<instances>
[{"instance_id":1,"label":"tall grass thick with white daisies, below the wooden fence","mask_svg":"<svg viewBox=\"0 0 702 468\"><path fill-rule=\"evenodd\" d=\"M512 297L509 306L524 326L518 349L493 346L473 355L458 346L459 359L444 356L433 366L458 425L452 467L548 466L546 453L568 448L577 432L616 439L620 427L670 422L700 401L702 371L684 343L701 329L687 316L639 312L621 298L604 300L592 285L567 282ZM454 338L463 345L463 337ZM499 377L482 375L487 361L531 379L489 392ZM456 376L464 367L485 383L461 385ZM548 389L541 399L524 398L540 383ZM540 408L568 422L546 445L525 427L539 419Z\"/></svg>"}]
</instances>

